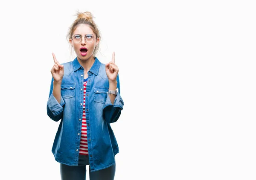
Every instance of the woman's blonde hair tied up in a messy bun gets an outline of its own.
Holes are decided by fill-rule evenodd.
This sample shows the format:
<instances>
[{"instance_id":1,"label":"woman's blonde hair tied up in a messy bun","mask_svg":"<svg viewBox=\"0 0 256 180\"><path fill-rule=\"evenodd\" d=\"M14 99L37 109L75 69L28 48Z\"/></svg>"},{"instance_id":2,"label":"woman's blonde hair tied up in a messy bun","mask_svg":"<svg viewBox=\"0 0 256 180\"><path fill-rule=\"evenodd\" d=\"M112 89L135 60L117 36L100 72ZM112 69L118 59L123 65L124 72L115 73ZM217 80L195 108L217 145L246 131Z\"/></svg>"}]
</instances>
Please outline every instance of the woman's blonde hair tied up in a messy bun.
<instances>
[{"instance_id":1,"label":"woman's blonde hair tied up in a messy bun","mask_svg":"<svg viewBox=\"0 0 256 180\"><path fill-rule=\"evenodd\" d=\"M93 30L94 34L96 35L96 39L101 39L101 35L96 23L93 21L93 15L90 12L79 12L76 13L76 20L71 24L70 28L67 32L67 41L72 38L73 32L76 30L77 26L80 24L87 24ZM93 57L97 54L99 50L99 44L95 47L93 51Z\"/></svg>"}]
</instances>

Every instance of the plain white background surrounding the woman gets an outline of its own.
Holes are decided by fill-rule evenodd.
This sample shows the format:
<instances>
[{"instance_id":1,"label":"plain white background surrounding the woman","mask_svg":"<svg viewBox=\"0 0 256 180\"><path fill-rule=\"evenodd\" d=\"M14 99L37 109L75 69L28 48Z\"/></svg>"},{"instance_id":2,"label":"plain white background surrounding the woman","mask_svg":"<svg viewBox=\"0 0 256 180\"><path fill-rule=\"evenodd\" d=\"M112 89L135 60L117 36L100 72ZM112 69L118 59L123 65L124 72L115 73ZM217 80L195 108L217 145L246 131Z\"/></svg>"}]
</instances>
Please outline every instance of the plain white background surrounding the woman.
<instances>
[{"instance_id":1,"label":"plain white background surrounding the woman","mask_svg":"<svg viewBox=\"0 0 256 180\"><path fill-rule=\"evenodd\" d=\"M121 96L111 124L115 180L256 179L256 6L253 0L11 1L0 4L0 179L60 180L47 116L53 65L72 61L75 13L116 52Z\"/></svg>"}]
</instances>

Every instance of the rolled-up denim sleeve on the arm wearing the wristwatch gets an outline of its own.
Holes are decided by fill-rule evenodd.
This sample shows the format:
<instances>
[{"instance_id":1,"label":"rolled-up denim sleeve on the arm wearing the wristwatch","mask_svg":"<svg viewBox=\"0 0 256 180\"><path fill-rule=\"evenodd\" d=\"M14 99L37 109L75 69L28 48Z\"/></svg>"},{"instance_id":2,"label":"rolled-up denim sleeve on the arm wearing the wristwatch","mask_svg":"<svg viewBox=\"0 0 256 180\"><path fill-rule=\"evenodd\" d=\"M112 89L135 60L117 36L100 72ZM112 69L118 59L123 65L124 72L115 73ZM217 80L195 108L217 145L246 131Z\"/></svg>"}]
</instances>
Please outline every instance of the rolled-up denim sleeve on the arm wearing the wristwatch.
<instances>
[{"instance_id":1,"label":"rolled-up denim sleeve on the arm wearing the wristwatch","mask_svg":"<svg viewBox=\"0 0 256 180\"><path fill-rule=\"evenodd\" d=\"M123 109L124 102L120 96L120 83L119 83L119 75L116 77L118 93L114 100L114 104L112 105L109 96L107 95L106 102L103 106L103 115L104 119L108 123L116 122L121 114L121 110Z\"/></svg>"}]
</instances>

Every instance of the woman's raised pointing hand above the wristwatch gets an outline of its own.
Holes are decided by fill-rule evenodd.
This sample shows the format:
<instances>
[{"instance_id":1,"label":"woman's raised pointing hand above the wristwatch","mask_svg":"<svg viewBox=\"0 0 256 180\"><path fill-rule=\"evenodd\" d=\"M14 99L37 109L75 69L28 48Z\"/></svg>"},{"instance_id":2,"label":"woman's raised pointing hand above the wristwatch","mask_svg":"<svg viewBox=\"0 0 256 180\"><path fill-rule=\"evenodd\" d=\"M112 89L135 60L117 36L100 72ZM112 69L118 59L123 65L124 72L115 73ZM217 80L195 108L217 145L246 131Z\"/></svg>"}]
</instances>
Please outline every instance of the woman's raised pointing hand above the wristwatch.
<instances>
[{"instance_id":1,"label":"woman's raised pointing hand above the wristwatch","mask_svg":"<svg viewBox=\"0 0 256 180\"><path fill-rule=\"evenodd\" d=\"M115 64L115 52L113 52L112 54L112 61L110 61L105 65L105 69L106 69L106 74L108 76L108 80L115 82L117 74L119 72L119 69Z\"/></svg>"}]
</instances>

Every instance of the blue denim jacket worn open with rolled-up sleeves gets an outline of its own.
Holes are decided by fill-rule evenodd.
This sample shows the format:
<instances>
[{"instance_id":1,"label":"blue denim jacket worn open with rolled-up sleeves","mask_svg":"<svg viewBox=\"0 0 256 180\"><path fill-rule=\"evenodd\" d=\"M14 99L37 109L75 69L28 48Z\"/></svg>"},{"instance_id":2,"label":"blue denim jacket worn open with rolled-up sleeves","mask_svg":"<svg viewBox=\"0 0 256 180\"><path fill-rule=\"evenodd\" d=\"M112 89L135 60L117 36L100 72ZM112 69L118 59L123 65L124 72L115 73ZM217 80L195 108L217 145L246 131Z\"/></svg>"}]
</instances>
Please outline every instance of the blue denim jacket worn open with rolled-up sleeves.
<instances>
[{"instance_id":1,"label":"blue denim jacket worn open with rolled-up sleeves","mask_svg":"<svg viewBox=\"0 0 256 180\"><path fill-rule=\"evenodd\" d=\"M47 114L54 120L61 119L52 153L55 160L66 165L78 165L79 146L84 99L84 68L77 58L64 63L64 76L61 84L61 102L52 95L53 78L47 101ZM98 171L115 164L114 156L119 152L116 138L110 123L116 122L124 102L120 96L119 75L114 104L108 96L109 82L105 64L97 58L88 71L85 116L87 122L88 154L91 171Z\"/></svg>"}]
</instances>

